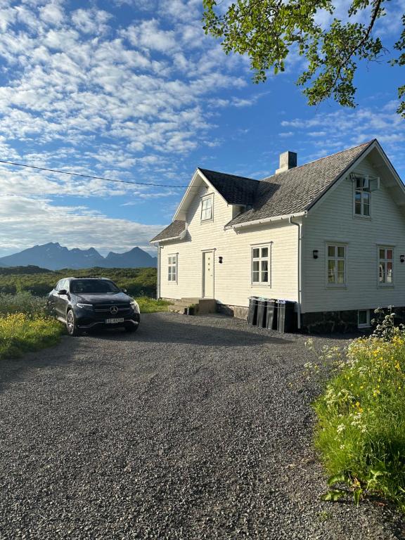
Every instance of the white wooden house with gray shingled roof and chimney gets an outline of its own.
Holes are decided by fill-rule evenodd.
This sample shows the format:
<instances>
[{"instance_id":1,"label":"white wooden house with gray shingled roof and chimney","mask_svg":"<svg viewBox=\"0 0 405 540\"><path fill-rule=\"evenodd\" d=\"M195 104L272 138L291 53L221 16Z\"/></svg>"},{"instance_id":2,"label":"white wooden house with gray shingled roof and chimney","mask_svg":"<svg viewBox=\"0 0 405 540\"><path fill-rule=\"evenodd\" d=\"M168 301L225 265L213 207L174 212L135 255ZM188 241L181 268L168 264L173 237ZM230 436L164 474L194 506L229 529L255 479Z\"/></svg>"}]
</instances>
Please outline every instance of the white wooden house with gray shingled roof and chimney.
<instances>
[{"instance_id":1,"label":"white wooden house with gray shingled roof and chimney","mask_svg":"<svg viewBox=\"0 0 405 540\"><path fill-rule=\"evenodd\" d=\"M245 317L249 297L296 302L307 331L405 312L405 188L376 139L261 181L196 169L158 247L158 297L210 298Z\"/></svg>"}]
</instances>

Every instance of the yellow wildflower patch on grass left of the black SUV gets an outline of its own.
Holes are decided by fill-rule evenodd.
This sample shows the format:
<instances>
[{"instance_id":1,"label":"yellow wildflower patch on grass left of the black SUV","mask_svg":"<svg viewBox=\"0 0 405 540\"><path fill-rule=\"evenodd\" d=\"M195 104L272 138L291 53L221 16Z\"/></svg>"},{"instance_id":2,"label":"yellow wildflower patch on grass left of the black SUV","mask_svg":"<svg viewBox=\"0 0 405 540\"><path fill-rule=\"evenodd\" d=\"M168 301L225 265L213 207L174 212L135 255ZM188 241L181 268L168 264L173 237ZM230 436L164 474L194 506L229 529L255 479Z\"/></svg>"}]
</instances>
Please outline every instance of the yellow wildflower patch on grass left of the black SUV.
<instances>
[{"instance_id":1,"label":"yellow wildflower patch on grass left of the black SUV","mask_svg":"<svg viewBox=\"0 0 405 540\"><path fill-rule=\"evenodd\" d=\"M13 313L0 316L0 359L56 345L63 326L55 319Z\"/></svg>"}]
</instances>

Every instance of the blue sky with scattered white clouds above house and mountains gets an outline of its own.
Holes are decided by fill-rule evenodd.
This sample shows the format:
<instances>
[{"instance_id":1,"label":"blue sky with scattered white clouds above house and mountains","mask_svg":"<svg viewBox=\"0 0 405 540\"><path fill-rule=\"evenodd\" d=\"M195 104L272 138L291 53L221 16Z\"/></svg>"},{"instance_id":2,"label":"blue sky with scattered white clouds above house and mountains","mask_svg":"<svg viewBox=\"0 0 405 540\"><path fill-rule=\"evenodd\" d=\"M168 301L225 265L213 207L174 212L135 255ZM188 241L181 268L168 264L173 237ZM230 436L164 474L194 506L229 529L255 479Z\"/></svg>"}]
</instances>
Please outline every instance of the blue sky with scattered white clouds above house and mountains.
<instances>
[{"instance_id":1,"label":"blue sky with scattered white clouds above house and mountains","mask_svg":"<svg viewBox=\"0 0 405 540\"><path fill-rule=\"evenodd\" d=\"M388 8L376 32L394 53L405 1ZM300 58L252 84L200 18L200 0L0 0L0 160L184 186L197 166L260 179L284 150L302 164L377 137L405 177L392 54L361 65L356 109L310 108ZM153 252L182 193L0 167L0 256L49 241Z\"/></svg>"}]
</instances>

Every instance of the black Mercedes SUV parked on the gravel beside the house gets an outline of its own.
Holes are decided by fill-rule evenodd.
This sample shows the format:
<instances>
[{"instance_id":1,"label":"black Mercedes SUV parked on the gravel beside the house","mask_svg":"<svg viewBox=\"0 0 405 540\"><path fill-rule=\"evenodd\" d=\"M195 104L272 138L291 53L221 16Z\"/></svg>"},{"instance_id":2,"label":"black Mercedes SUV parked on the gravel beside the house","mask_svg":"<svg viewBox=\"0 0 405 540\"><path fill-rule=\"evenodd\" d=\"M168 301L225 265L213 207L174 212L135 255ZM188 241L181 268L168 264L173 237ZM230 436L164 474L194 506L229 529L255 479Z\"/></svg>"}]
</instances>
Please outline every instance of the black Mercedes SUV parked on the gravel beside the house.
<instances>
[{"instance_id":1,"label":"black Mercedes SUV parked on the gravel beside the house","mask_svg":"<svg viewBox=\"0 0 405 540\"><path fill-rule=\"evenodd\" d=\"M64 278L49 293L48 305L69 335L93 328L138 330L141 316L133 298L106 278Z\"/></svg>"}]
</instances>

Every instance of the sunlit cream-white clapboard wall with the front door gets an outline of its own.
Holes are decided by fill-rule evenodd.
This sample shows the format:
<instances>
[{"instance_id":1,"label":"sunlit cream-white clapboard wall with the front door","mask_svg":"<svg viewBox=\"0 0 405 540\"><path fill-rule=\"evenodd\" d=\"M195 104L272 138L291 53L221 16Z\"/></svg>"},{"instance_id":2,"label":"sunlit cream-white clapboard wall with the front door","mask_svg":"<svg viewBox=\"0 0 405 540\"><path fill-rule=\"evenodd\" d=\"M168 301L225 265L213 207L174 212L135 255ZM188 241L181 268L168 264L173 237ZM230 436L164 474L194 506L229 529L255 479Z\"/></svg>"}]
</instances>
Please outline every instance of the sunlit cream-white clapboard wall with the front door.
<instances>
[{"instance_id":1,"label":"sunlit cream-white clapboard wall with the front door","mask_svg":"<svg viewBox=\"0 0 405 540\"><path fill-rule=\"evenodd\" d=\"M297 300L297 226L283 224L259 229L224 231L233 217L233 207L214 193L214 219L200 220L201 188L188 209L188 231L179 242L164 243L160 251L160 296L201 297L203 250L214 252L214 297L222 304L247 307L252 295ZM211 191L212 193L212 191ZM251 283L251 246L271 243L271 286ZM177 283L167 280L169 255L178 255ZM222 257L222 264L219 264Z\"/></svg>"}]
</instances>

